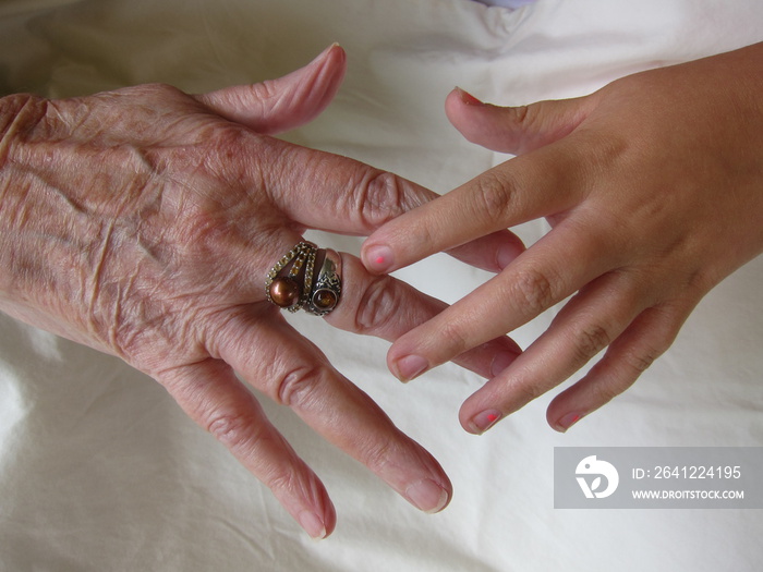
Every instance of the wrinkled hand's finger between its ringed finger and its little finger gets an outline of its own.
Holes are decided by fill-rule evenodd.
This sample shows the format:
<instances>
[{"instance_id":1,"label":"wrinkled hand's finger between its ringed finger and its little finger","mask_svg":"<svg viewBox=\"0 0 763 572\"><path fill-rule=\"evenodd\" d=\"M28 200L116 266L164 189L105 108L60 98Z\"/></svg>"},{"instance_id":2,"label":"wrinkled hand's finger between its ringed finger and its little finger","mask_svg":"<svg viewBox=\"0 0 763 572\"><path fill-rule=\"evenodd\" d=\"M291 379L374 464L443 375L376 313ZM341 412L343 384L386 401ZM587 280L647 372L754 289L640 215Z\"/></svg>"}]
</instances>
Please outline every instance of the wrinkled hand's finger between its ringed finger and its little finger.
<instances>
[{"instance_id":1,"label":"wrinkled hand's finger between its ringed finger and its little finger","mask_svg":"<svg viewBox=\"0 0 763 572\"><path fill-rule=\"evenodd\" d=\"M445 508L452 488L437 461L313 343L284 320L266 318L254 311L232 317L219 333L216 351L253 387L291 407L409 502L425 512Z\"/></svg>"}]
</instances>

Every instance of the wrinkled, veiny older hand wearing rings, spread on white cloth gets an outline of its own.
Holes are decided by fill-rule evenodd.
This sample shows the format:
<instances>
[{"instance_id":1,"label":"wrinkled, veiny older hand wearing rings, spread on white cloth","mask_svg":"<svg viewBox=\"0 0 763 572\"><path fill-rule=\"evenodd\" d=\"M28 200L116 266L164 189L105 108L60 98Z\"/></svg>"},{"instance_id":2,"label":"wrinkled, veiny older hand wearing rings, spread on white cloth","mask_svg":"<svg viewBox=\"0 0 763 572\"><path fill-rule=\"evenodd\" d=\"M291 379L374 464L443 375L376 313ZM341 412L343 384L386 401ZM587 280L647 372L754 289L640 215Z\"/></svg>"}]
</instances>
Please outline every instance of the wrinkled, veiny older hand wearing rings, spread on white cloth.
<instances>
[{"instance_id":1,"label":"wrinkled, veiny older hand wearing rings, spread on white cloth","mask_svg":"<svg viewBox=\"0 0 763 572\"><path fill-rule=\"evenodd\" d=\"M315 117L344 61L334 46L281 80L196 97L148 85L0 100L0 307L153 376L314 537L335 526L328 495L234 372L420 509L451 494L437 462L265 295L306 228L368 234L434 196L267 136ZM491 266L500 240L461 255ZM444 308L342 258L335 326L393 340ZM460 363L487 374L516 352L501 339Z\"/></svg>"}]
</instances>

